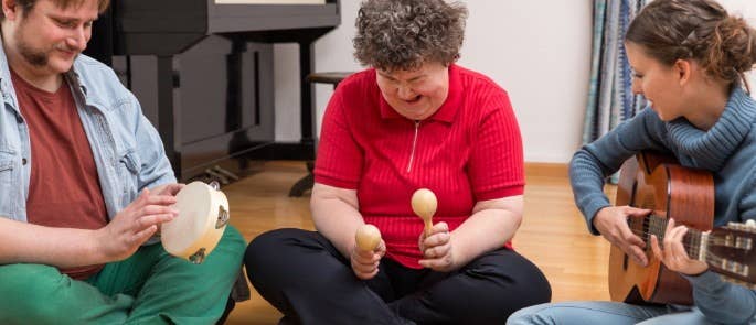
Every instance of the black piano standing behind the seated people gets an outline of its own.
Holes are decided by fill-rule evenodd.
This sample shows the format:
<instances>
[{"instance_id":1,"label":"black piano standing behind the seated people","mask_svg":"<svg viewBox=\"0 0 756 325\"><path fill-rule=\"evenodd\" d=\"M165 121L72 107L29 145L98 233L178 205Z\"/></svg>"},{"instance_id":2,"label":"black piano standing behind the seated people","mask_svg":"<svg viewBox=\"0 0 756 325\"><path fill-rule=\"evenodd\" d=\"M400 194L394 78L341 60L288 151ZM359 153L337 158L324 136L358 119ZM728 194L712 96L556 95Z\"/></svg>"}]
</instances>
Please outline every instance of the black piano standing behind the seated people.
<instances>
[{"instance_id":1,"label":"black piano standing behind the seated people","mask_svg":"<svg viewBox=\"0 0 756 325\"><path fill-rule=\"evenodd\" d=\"M114 0L95 23L85 53L110 64L135 93L182 181L235 173L249 159L315 158L306 76L313 42L341 21L340 3L269 2L276 0ZM275 141L273 43L299 44L295 143Z\"/></svg>"}]
</instances>

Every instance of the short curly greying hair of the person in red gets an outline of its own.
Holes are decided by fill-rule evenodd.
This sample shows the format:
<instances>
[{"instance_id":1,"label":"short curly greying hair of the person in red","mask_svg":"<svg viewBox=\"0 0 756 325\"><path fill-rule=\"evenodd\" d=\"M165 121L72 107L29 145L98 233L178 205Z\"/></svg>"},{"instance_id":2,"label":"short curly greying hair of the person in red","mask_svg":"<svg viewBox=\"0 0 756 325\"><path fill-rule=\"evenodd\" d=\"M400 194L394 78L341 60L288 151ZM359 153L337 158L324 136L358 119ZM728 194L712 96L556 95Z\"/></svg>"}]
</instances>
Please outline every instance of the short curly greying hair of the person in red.
<instances>
[{"instance_id":1,"label":"short curly greying hair of the person in red","mask_svg":"<svg viewBox=\"0 0 756 325\"><path fill-rule=\"evenodd\" d=\"M383 71L413 71L459 57L467 8L444 0L366 0L356 18L354 57Z\"/></svg>"}]
</instances>

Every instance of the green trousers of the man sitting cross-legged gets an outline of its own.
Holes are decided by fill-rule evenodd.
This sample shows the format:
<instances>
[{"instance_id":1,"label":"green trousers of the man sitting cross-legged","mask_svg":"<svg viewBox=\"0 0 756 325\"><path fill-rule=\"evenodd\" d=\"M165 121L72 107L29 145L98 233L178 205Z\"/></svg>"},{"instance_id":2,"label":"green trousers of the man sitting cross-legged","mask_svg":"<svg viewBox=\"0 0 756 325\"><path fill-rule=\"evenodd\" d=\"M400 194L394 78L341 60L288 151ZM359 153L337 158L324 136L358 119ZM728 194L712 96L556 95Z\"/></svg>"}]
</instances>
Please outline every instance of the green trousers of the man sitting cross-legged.
<instances>
[{"instance_id":1,"label":"green trousers of the man sitting cross-legged","mask_svg":"<svg viewBox=\"0 0 756 325\"><path fill-rule=\"evenodd\" d=\"M49 266L0 266L0 324L214 324L245 248L228 226L202 264L157 243L85 281Z\"/></svg>"}]
</instances>

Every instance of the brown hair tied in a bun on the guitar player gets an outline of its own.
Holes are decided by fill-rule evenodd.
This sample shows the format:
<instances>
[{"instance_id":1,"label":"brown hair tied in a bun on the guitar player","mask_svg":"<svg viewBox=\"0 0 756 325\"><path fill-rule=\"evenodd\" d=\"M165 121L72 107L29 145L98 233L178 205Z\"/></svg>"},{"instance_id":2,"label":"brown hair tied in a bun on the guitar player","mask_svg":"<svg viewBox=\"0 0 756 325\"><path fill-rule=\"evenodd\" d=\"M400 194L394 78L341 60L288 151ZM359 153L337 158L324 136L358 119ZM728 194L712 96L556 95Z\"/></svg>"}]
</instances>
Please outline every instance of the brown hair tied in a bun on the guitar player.
<instances>
[{"instance_id":1,"label":"brown hair tied in a bun on the guitar player","mask_svg":"<svg viewBox=\"0 0 756 325\"><path fill-rule=\"evenodd\" d=\"M633 19L625 40L666 65L695 59L709 76L731 84L745 83L743 73L756 62L756 31L713 0L654 0Z\"/></svg>"}]
</instances>

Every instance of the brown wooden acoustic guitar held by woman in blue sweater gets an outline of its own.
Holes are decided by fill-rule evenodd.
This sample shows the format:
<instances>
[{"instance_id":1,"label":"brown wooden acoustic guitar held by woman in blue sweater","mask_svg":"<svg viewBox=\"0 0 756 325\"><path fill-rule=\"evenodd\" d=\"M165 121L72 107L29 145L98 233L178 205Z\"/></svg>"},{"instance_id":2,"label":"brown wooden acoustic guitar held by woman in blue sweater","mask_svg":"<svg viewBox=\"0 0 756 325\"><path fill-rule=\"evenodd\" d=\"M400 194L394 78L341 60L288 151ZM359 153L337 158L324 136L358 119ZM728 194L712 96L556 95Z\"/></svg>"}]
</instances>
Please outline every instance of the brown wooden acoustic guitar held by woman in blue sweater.
<instances>
[{"instance_id":1,"label":"brown wooden acoustic guitar held by woman in blue sweater","mask_svg":"<svg viewBox=\"0 0 756 325\"><path fill-rule=\"evenodd\" d=\"M693 303L690 282L667 269L651 251L651 235L663 240L668 218L690 228L683 238L689 257L705 261L725 281L750 288L756 283L756 223L730 223L712 229L714 180L709 172L683 167L669 156L640 153L622 164L615 204L652 213L628 218L630 229L647 243L647 267L611 246L611 300L636 304Z\"/></svg>"}]
</instances>

